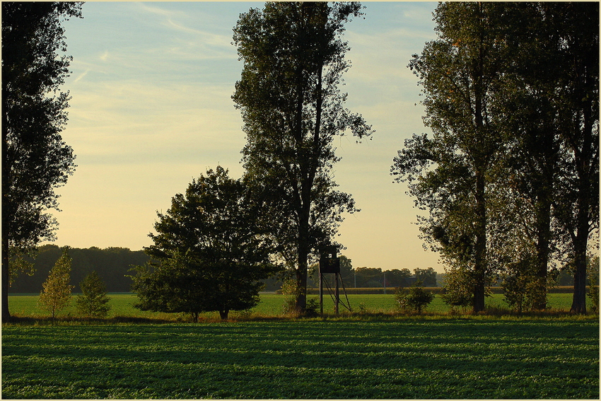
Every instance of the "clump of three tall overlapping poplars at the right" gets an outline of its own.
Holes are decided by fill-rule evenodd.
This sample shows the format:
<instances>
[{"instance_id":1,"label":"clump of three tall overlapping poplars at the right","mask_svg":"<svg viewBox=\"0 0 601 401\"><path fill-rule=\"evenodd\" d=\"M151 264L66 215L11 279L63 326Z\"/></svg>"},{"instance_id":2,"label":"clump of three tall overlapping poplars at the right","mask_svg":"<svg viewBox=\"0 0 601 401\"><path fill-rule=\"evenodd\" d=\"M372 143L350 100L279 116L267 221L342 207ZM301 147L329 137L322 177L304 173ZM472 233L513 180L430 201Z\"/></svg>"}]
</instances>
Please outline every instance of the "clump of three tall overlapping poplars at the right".
<instances>
[{"instance_id":1,"label":"clump of three tall overlapping poplars at the right","mask_svg":"<svg viewBox=\"0 0 601 401\"><path fill-rule=\"evenodd\" d=\"M471 287L475 312L496 274L544 308L552 256L573 266L572 311L585 312L598 4L441 3L434 16L438 39L409 63L433 135L407 139L391 169L428 211L424 239L457 271L450 287Z\"/></svg>"}]
</instances>

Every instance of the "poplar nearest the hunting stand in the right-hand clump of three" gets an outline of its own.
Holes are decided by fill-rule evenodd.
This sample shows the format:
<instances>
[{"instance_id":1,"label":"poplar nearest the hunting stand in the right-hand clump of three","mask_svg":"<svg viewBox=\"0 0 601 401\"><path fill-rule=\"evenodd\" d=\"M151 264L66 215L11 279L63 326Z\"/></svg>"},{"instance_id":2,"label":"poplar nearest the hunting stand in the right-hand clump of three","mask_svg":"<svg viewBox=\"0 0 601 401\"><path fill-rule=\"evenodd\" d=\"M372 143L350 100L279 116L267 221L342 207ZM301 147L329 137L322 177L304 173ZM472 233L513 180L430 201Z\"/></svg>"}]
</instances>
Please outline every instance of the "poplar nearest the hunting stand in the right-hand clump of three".
<instances>
[{"instance_id":1,"label":"poplar nearest the hunting stand in the right-hand clump of three","mask_svg":"<svg viewBox=\"0 0 601 401\"><path fill-rule=\"evenodd\" d=\"M453 268L469 272L473 310L484 310L491 272L489 193L491 169L503 141L491 103L506 60L503 4L440 3L438 39L409 68L423 86L424 124L433 137L414 135L399 151L392 174L409 182L416 205L429 211L421 231Z\"/></svg>"}]
</instances>

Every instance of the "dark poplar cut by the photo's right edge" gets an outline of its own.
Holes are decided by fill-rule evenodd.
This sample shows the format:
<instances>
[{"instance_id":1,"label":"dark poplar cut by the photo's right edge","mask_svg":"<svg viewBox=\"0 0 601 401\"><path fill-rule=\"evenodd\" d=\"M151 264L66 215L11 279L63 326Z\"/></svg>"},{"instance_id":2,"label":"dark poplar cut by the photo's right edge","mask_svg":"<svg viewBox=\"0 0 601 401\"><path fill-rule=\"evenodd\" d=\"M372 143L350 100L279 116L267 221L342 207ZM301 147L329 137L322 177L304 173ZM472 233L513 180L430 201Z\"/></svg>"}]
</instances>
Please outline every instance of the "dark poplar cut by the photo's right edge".
<instances>
[{"instance_id":1,"label":"dark poplar cut by the photo's right edge","mask_svg":"<svg viewBox=\"0 0 601 401\"><path fill-rule=\"evenodd\" d=\"M568 153L555 199L573 262L572 313L586 313L590 236L599 229L599 3L543 3L559 69L556 98Z\"/></svg>"}]
</instances>

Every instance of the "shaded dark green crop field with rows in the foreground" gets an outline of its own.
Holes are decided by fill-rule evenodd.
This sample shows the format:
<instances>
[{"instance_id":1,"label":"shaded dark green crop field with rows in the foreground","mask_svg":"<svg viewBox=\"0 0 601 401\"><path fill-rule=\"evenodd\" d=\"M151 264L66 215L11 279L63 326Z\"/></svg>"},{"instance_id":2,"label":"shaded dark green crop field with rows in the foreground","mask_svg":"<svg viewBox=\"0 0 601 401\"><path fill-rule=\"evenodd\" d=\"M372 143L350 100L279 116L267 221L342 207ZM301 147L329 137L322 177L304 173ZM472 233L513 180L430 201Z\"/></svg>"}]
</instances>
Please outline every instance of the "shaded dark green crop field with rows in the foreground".
<instances>
[{"instance_id":1,"label":"shaded dark green crop field with rows in the foreground","mask_svg":"<svg viewBox=\"0 0 601 401\"><path fill-rule=\"evenodd\" d=\"M599 322L5 325L4 398L599 399Z\"/></svg>"}]
</instances>

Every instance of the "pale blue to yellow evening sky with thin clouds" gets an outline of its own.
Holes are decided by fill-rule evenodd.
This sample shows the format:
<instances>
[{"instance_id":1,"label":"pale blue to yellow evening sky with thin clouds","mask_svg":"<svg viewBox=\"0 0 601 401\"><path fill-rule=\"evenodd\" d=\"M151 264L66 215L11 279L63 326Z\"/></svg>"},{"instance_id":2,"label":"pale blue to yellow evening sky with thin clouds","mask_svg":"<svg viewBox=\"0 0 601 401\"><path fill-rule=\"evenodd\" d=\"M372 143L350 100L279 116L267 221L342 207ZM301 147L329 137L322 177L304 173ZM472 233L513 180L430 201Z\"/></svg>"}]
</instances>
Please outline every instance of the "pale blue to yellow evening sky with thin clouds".
<instances>
[{"instance_id":1,"label":"pale blue to yellow evening sky with thin clouds","mask_svg":"<svg viewBox=\"0 0 601 401\"><path fill-rule=\"evenodd\" d=\"M56 245L74 248L151 245L157 211L192 179L222 165L240 178L245 145L231 95L243 62L232 42L240 13L262 2L95 2L64 23L72 74L63 139L78 167L64 187ZM412 54L436 38L433 2L363 2L365 18L346 24L351 69L346 107L375 133L356 144L334 139L334 178L361 212L347 214L335 238L353 267L433 267L424 250L414 199L393 183L392 158L421 120Z\"/></svg>"}]
</instances>

